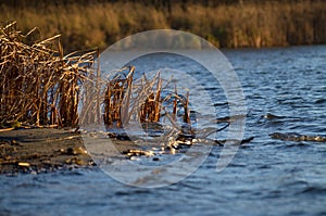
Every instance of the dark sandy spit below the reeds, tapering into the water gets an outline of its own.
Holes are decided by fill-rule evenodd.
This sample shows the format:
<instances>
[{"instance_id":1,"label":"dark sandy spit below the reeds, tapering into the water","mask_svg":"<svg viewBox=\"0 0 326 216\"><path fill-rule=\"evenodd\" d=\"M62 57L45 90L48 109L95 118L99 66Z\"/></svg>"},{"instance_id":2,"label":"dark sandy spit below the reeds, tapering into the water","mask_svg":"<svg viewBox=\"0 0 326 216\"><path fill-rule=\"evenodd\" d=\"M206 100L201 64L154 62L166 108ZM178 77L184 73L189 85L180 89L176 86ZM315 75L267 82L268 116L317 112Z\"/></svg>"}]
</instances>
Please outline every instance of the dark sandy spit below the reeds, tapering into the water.
<instances>
[{"instance_id":1,"label":"dark sandy spit below the reeds, tapering into the water","mask_svg":"<svg viewBox=\"0 0 326 216\"><path fill-rule=\"evenodd\" d=\"M244 139L241 144L252 139L253 137ZM202 142L221 145L212 140ZM38 174L58 169L89 168L96 166L97 160L153 156L152 151L148 151L151 148L161 148L160 139L152 142L135 142L124 137L110 138L103 132L80 135L74 130L53 128L0 130L0 174ZM179 148L181 149L177 150ZM186 152L188 148L187 144L185 148L165 147L162 151L163 154L174 154L176 151ZM158 160L159 157L153 156L153 161Z\"/></svg>"}]
</instances>

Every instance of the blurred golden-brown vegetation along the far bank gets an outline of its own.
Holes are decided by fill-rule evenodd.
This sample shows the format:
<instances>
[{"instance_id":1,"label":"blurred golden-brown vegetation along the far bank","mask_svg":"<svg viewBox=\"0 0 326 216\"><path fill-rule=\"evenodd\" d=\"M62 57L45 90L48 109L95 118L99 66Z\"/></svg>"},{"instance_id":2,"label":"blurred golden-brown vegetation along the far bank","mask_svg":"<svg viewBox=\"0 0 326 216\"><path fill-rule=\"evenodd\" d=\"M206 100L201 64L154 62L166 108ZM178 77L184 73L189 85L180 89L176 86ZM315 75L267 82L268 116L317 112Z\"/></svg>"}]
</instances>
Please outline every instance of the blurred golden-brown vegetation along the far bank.
<instances>
[{"instance_id":1,"label":"blurred golden-brown vegetation along the far bank","mask_svg":"<svg viewBox=\"0 0 326 216\"><path fill-rule=\"evenodd\" d=\"M61 34L67 52L159 28L220 48L326 43L325 0L0 0L0 21L23 33L37 26L35 39Z\"/></svg>"}]
</instances>

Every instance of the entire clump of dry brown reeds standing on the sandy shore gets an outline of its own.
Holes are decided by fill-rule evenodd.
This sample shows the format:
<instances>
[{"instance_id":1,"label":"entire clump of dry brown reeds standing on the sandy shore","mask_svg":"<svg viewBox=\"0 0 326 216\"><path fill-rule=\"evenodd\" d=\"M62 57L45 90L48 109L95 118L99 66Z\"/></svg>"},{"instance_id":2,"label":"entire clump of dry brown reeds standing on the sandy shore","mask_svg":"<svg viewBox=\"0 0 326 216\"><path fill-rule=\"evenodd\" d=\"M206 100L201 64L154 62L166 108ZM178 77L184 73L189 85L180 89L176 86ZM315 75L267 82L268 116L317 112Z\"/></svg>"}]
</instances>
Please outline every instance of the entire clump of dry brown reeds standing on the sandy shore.
<instances>
[{"instance_id":1,"label":"entire clump of dry brown reeds standing on the sandy shore","mask_svg":"<svg viewBox=\"0 0 326 216\"><path fill-rule=\"evenodd\" d=\"M122 68L106 80L100 74L100 52L64 55L60 35L28 40L36 28L23 35L16 23L0 28L0 124L76 127L98 125L121 128L139 122L173 126L190 124L189 92L162 96L171 81L160 73L134 78L135 67ZM177 119L177 113L183 116Z\"/></svg>"}]
</instances>

